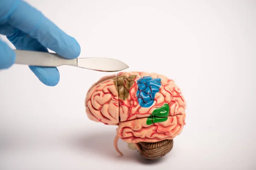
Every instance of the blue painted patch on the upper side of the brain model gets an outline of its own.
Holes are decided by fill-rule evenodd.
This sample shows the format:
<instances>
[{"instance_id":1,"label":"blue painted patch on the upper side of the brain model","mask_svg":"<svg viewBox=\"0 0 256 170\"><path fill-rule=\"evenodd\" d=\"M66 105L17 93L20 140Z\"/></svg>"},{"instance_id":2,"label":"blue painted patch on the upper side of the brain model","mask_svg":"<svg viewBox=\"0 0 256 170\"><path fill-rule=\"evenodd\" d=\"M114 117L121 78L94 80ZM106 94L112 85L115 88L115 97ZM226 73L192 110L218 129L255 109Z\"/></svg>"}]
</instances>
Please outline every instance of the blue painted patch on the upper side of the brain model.
<instances>
[{"instance_id":1,"label":"blue painted patch on the upper side of the brain model","mask_svg":"<svg viewBox=\"0 0 256 170\"><path fill-rule=\"evenodd\" d=\"M148 108L153 105L155 95L160 91L161 79L153 79L151 76L145 76L137 81L137 85L137 98L139 104L144 108Z\"/></svg>"}]
</instances>

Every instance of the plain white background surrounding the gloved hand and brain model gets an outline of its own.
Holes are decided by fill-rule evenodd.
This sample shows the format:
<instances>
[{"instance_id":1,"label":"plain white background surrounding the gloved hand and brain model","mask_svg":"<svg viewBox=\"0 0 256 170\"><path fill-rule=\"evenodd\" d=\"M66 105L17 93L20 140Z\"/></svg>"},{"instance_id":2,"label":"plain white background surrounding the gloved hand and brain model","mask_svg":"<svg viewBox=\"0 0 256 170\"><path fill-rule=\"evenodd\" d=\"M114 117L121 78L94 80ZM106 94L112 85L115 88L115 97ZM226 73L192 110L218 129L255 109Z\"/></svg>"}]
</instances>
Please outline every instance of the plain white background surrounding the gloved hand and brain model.
<instances>
[{"instance_id":1,"label":"plain white background surrounding the gloved hand and brain model","mask_svg":"<svg viewBox=\"0 0 256 170\"><path fill-rule=\"evenodd\" d=\"M101 73L61 66L43 85L28 66L0 71L0 170L255 170L253 0L29 0L81 45L174 79L186 126L163 159L145 161L116 126L92 122L84 99ZM149 59L153 58L153 59ZM167 58L167 59L166 59Z\"/></svg>"}]
</instances>

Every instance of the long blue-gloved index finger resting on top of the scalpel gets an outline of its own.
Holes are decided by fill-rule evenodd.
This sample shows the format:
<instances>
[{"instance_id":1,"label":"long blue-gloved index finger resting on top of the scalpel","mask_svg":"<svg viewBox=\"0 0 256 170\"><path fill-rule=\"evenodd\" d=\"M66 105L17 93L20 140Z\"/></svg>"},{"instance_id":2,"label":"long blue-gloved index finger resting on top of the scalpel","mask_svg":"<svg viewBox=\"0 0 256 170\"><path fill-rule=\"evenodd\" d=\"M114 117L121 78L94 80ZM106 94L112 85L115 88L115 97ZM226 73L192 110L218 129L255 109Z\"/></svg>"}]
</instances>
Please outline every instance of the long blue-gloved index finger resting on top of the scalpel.
<instances>
[{"instance_id":1,"label":"long blue-gloved index finger resting on top of the scalpel","mask_svg":"<svg viewBox=\"0 0 256 170\"><path fill-rule=\"evenodd\" d=\"M0 0L0 23L4 22L29 34L62 57L74 59L80 55L80 45L73 37L22 0Z\"/></svg>"}]
</instances>

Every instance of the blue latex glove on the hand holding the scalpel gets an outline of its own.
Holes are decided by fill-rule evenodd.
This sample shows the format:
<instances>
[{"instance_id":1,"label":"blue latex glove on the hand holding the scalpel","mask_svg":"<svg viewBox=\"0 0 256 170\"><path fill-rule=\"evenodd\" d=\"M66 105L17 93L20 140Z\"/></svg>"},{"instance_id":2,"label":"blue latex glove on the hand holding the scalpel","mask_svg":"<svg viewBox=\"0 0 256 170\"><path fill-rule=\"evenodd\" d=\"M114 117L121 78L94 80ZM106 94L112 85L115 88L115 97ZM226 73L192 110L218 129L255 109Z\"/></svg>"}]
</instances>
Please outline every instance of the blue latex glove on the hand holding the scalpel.
<instances>
[{"instance_id":1,"label":"blue latex glove on the hand holding the scalpel","mask_svg":"<svg viewBox=\"0 0 256 170\"><path fill-rule=\"evenodd\" d=\"M47 51L47 48L68 59L80 54L78 42L65 34L40 11L22 0L0 0L0 34L16 49ZM15 52L0 40L0 69L15 62ZM55 67L29 66L38 79L48 86L58 84L60 75Z\"/></svg>"}]
</instances>

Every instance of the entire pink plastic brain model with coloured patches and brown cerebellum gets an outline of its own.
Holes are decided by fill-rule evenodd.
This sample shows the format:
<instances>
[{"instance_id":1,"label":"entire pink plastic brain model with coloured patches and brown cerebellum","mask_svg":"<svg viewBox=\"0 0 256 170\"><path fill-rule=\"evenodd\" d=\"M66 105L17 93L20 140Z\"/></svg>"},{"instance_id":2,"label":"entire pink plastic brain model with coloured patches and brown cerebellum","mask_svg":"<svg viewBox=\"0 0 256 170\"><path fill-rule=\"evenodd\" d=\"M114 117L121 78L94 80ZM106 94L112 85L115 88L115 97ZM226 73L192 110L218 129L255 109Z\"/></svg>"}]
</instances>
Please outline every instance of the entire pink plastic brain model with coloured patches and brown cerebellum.
<instances>
[{"instance_id":1,"label":"entire pink plastic brain model with coloured patches and brown cerebellum","mask_svg":"<svg viewBox=\"0 0 256 170\"><path fill-rule=\"evenodd\" d=\"M172 150L173 139L185 125L186 102L175 82L159 74L120 72L102 77L87 92L90 120L117 125L119 139L145 159L160 158Z\"/></svg>"}]
</instances>

